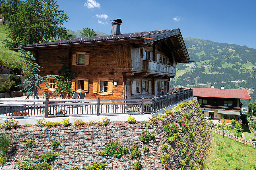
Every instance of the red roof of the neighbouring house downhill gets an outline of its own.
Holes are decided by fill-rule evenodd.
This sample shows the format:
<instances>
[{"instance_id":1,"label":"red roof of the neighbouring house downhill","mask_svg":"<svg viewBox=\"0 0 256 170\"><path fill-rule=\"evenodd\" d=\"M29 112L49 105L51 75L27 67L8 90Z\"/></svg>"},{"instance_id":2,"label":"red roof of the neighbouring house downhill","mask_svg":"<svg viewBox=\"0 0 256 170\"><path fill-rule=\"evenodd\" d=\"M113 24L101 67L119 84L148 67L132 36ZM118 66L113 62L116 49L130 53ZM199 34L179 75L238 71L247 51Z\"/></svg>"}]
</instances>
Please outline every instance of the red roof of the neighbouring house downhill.
<instances>
[{"instance_id":1,"label":"red roof of the neighbouring house downhill","mask_svg":"<svg viewBox=\"0 0 256 170\"><path fill-rule=\"evenodd\" d=\"M216 88L192 88L196 97L219 97L233 99L251 99L247 90L240 89L216 89Z\"/></svg>"}]
</instances>

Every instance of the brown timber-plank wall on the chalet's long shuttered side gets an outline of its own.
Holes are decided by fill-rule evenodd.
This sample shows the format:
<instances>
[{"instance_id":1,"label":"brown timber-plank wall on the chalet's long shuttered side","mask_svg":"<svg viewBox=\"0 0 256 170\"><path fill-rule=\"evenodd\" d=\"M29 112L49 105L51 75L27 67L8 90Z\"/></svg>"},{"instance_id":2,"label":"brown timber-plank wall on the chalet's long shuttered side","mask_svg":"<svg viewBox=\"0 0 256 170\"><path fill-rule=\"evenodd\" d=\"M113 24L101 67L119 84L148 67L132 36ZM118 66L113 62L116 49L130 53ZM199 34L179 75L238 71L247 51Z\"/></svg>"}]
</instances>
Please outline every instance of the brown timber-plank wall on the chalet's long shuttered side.
<instances>
[{"instance_id":1,"label":"brown timber-plank wall on the chalet's long shuttered side","mask_svg":"<svg viewBox=\"0 0 256 170\"><path fill-rule=\"evenodd\" d=\"M72 54L76 52L89 52L90 64L79 66L72 65ZM114 45L71 48L70 52L69 49L38 51L37 61L42 67L40 75L59 74L58 70L62 67L62 65L59 64L60 57L66 58L66 64L69 63L69 68L76 71L76 77L89 80L89 90L88 93L86 93L86 99L96 99L98 96L100 96L101 99L123 98L123 75L122 72L116 71ZM110 80L113 80L113 82L117 82L117 85L113 85L113 94L97 95L96 93L93 93L93 80L98 78L109 78ZM40 87L42 89L39 90L39 94L42 96L45 91L43 89L44 84L41 84Z\"/></svg>"}]
</instances>

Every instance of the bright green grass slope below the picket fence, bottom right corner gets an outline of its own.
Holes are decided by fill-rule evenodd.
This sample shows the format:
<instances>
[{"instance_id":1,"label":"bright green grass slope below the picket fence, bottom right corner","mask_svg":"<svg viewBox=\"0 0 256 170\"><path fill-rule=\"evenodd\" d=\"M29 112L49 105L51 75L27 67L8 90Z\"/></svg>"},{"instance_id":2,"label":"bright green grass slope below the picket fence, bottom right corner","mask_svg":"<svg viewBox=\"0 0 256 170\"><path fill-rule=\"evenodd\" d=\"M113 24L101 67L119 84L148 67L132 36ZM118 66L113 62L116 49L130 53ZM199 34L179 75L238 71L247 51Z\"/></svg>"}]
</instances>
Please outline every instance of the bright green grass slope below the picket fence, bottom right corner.
<instances>
[{"instance_id":1,"label":"bright green grass slope below the picket fence, bottom right corner","mask_svg":"<svg viewBox=\"0 0 256 170\"><path fill-rule=\"evenodd\" d=\"M256 148L212 132L212 146L204 170L255 170Z\"/></svg>"}]
</instances>

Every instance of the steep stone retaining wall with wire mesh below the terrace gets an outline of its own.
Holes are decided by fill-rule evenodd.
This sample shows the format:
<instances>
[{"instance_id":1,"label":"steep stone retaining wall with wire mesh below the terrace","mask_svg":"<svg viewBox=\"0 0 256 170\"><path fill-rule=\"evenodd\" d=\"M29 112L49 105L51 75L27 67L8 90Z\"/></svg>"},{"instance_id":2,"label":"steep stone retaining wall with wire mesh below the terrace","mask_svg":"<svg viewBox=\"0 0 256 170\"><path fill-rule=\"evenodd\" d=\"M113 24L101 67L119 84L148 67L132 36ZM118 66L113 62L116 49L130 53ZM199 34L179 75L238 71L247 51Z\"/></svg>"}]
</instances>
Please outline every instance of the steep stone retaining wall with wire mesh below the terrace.
<instances>
[{"instance_id":1,"label":"steep stone retaining wall with wire mesh below the terrace","mask_svg":"<svg viewBox=\"0 0 256 170\"><path fill-rule=\"evenodd\" d=\"M121 158L114 158L110 156L98 156L97 152L104 150L107 143L113 141L120 141L127 148L131 148L133 143L137 143L139 148L148 146L149 152L142 152L139 160L142 164L142 170L151 169L163 169L161 164L161 156L163 153L170 152L171 148L175 150L174 156L171 156L168 160L169 169L179 169L180 163L183 161L184 156L181 154L181 150L184 148L186 153L189 150L194 154L193 143L189 138L185 138L181 133L180 137L175 139L169 148L166 150L160 150L162 144L167 140L168 135L163 130L164 124L169 121L177 121L182 117L182 114L191 112L190 122L194 126L194 133L196 142L201 145L201 153L205 153L208 149L208 145L203 147L203 144L211 142L211 134L208 129L205 129L207 135L205 141L202 141L200 129L207 127L204 119L198 116L196 109L198 102L196 101L189 107L185 107L181 113L168 116L166 121L158 121L154 126L146 128L139 122L136 124L127 124L127 122L112 122L108 126L96 126L86 125L81 128L74 126L62 127L57 126L53 128L44 128L39 126L20 127L9 131L11 133L11 146L12 152L9 153L9 160L16 161L23 156L29 156L30 159L36 163L39 163L39 156L45 152L51 152L51 141L59 140L61 146L58 146L53 150L57 152L59 156L54 161L50 162L50 165L55 170L69 169L71 166L78 166L80 169L86 169L88 163L90 165L95 161L106 162L107 165L104 169L134 169L135 160L129 158L130 153L123 155ZM203 122L203 123L202 123ZM199 129L197 128L199 126ZM144 130L148 130L150 133L156 133L156 137L151 140L147 145L144 145L139 140L139 134ZM187 134L188 135L188 134ZM180 138L183 139L183 143L177 146ZM26 140L32 139L36 143L32 148L29 148L24 144ZM169 154L169 153L168 153ZM196 163L195 163L196 164ZM185 165L186 167L187 165ZM187 168L187 167L186 167Z\"/></svg>"}]
</instances>

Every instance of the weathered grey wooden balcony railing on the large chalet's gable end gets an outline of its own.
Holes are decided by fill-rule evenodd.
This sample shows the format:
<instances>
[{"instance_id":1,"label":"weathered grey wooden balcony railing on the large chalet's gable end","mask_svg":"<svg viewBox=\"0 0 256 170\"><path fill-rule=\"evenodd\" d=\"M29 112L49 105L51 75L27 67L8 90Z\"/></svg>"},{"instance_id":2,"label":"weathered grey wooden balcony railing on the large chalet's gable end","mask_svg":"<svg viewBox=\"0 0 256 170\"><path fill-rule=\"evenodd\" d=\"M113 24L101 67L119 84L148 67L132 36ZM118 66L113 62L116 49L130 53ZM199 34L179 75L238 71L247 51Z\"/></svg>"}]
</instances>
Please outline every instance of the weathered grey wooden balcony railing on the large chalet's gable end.
<instances>
[{"instance_id":1,"label":"weathered grey wooden balcony railing on the large chalet's gable end","mask_svg":"<svg viewBox=\"0 0 256 170\"><path fill-rule=\"evenodd\" d=\"M149 73L176 74L176 67L152 60L143 60L143 70L147 70Z\"/></svg>"}]
</instances>

